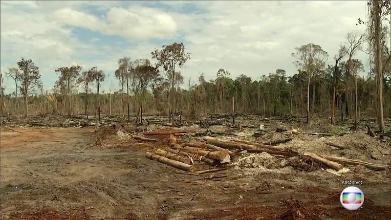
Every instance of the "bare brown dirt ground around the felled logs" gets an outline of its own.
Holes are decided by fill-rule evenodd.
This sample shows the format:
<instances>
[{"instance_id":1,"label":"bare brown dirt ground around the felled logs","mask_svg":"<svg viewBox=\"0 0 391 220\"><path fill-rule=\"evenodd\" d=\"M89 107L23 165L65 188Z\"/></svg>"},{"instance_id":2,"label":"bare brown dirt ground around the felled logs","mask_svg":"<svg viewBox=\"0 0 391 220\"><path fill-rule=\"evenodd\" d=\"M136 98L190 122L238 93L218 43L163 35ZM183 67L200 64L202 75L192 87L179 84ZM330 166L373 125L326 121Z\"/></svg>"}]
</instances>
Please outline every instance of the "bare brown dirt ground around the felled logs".
<instances>
[{"instance_id":1,"label":"bare brown dirt ground around the felled logs","mask_svg":"<svg viewBox=\"0 0 391 220\"><path fill-rule=\"evenodd\" d=\"M278 135L285 134L262 138ZM146 151L168 146L166 136L155 137L161 141L129 140L110 128L1 128L1 219L391 219L389 170L347 165L335 172L262 153L195 176L146 158ZM389 164L388 143L370 138L298 134L280 146ZM326 147L325 140L351 148ZM211 175L221 177L195 180ZM340 204L343 180L363 182L365 202L357 211Z\"/></svg>"}]
</instances>

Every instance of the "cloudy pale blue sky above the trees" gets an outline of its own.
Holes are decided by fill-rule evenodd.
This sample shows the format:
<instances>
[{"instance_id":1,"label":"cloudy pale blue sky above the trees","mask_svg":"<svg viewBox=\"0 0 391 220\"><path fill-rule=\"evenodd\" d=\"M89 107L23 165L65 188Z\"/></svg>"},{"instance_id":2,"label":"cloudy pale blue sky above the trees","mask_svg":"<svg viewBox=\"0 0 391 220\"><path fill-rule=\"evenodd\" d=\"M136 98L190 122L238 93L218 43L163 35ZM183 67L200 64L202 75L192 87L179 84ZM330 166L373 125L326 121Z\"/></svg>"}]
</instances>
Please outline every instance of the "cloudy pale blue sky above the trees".
<instances>
[{"instance_id":1,"label":"cloudy pale blue sky above the trees","mask_svg":"<svg viewBox=\"0 0 391 220\"><path fill-rule=\"evenodd\" d=\"M103 88L120 88L118 59L150 59L154 48L183 43L191 60L179 69L184 88L200 73L216 78L219 68L233 78L258 80L284 69L297 73L295 47L318 44L333 64L348 32L364 32L366 1L17 1L1 0L1 72L31 59L40 69L44 90L52 92L55 69L93 66L108 77ZM368 64L368 55L356 59ZM15 90L4 79L5 93Z\"/></svg>"}]
</instances>

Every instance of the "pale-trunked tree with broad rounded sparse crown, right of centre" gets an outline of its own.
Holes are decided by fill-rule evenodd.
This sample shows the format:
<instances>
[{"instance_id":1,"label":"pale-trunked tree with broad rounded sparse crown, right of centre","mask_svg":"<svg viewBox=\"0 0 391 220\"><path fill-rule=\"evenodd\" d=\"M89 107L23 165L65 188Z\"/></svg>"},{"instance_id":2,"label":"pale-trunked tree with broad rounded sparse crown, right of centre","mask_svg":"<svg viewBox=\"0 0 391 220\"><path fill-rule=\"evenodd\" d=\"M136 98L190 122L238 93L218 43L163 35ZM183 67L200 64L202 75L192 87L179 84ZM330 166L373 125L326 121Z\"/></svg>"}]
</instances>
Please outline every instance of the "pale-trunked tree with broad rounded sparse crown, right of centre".
<instances>
[{"instance_id":1,"label":"pale-trunked tree with broad rounded sparse crown, right of centre","mask_svg":"<svg viewBox=\"0 0 391 220\"><path fill-rule=\"evenodd\" d=\"M295 48L296 53L292 56L298 59L296 62L298 66L302 66L307 76L307 123L309 123L309 86L311 77L316 76L321 68L325 66L328 59L328 54L321 46L315 44L306 44Z\"/></svg>"}]
</instances>

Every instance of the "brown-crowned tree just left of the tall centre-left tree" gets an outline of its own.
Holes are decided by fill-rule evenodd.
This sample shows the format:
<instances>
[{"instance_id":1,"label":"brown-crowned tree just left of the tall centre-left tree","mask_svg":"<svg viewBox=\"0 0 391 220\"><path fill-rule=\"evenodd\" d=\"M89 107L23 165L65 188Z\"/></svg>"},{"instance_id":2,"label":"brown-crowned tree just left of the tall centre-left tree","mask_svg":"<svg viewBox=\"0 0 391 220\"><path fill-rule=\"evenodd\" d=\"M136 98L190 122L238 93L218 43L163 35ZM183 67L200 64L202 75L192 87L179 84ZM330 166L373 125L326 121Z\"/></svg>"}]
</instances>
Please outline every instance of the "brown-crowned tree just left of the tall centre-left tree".
<instances>
[{"instance_id":1,"label":"brown-crowned tree just left of the tall centre-left tree","mask_svg":"<svg viewBox=\"0 0 391 220\"><path fill-rule=\"evenodd\" d=\"M160 78L158 66L152 66L148 59L136 60L134 68L131 68L133 76L133 84L136 91L140 89L140 123L143 122L143 101L145 99L147 88L152 86L152 83L156 82ZM137 119L136 119L137 122Z\"/></svg>"}]
</instances>

